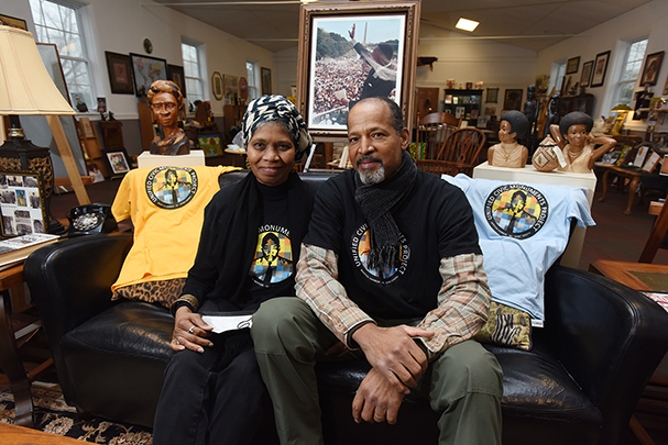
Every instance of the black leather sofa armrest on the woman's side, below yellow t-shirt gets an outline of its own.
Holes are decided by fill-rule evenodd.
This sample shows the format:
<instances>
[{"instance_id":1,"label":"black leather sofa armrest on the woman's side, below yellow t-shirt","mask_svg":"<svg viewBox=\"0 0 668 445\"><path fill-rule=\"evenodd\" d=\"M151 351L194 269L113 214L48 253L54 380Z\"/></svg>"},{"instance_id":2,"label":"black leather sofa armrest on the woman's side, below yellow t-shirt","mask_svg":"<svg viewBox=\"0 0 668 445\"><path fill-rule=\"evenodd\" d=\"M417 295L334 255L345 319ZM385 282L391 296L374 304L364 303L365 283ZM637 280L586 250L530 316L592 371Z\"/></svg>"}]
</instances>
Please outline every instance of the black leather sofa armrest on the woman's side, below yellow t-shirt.
<instances>
[{"instance_id":1,"label":"black leather sofa armrest on the woman's side, below yellow t-shirt","mask_svg":"<svg viewBox=\"0 0 668 445\"><path fill-rule=\"evenodd\" d=\"M25 282L56 366L61 337L113 304L110 288L131 245L132 235L124 233L79 236L44 246L25 260Z\"/></svg>"}]
</instances>

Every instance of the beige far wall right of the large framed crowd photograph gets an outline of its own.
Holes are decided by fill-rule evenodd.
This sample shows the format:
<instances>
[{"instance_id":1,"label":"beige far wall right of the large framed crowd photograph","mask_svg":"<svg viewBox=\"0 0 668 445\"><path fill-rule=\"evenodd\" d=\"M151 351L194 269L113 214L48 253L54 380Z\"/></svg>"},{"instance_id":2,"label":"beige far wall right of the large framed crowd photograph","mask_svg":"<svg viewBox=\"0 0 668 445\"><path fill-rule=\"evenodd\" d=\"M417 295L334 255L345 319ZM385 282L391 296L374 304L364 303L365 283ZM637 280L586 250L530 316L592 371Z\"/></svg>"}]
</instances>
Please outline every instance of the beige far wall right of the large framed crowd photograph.
<instances>
[{"instance_id":1,"label":"beige far wall right of the large framed crowd photograph","mask_svg":"<svg viewBox=\"0 0 668 445\"><path fill-rule=\"evenodd\" d=\"M442 110L443 89L447 79L457 84L483 81L483 88L499 88L496 115L503 109L506 89L524 90L536 81L537 53L518 46L506 45L491 40L468 38L459 32L420 25L417 55L437 57L434 71L428 66L418 66L417 87L438 87L439 110ZM549 74L548 71L544 71ZM543 73L541 73L543 74ZM483 96L486 99L486 92ZM494 107L490 103L489 105Z\"/></svg>"}]
</instances>

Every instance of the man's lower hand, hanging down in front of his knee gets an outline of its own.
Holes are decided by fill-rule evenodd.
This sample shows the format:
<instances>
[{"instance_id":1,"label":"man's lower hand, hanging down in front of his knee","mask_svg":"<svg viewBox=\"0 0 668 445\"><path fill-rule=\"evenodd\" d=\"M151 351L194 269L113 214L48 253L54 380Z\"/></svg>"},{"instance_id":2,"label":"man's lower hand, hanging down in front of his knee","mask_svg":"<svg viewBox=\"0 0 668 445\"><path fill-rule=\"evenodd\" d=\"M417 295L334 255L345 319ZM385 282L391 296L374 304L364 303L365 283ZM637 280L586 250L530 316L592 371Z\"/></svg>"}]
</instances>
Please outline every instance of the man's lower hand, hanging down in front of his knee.
<instances>
[{"instance_id":1,"label":"man's lower hand, hanging down in front of his knee","mask_svg":"<svg viewBox=\"0 0 668 445\"><path fill-rule=\"evenodd\" d=\"M366 422L391 425L396 423L404 392L397 391L375 368L372 368L352 401L352 418L357 423Z\"/></svg>"}]
</instances>

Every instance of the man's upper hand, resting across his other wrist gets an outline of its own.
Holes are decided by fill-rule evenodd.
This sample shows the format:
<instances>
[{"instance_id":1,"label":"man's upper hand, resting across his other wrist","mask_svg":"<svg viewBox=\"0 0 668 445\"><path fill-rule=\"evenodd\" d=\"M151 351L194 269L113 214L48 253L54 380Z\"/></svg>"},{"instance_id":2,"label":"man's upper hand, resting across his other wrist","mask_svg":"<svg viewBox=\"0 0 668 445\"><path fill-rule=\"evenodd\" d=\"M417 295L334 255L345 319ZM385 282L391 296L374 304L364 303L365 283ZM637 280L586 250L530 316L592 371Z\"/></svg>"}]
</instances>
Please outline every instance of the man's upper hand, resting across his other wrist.
<instances>
[{"instance_id":1,"label":"man's upper hand, resting across his other wrist","mask_svg":"<svg viewBox=\"0 0 668 445\"><path fill-rule=\"evenodd\" d=\"M429 366L427 356L413 338L431 336L431 331L405 324L379 327L373 323L363 325L352 335L371 366L404 394L410 392L408 388L417 386Z\"/></svg>"}]
</instances>

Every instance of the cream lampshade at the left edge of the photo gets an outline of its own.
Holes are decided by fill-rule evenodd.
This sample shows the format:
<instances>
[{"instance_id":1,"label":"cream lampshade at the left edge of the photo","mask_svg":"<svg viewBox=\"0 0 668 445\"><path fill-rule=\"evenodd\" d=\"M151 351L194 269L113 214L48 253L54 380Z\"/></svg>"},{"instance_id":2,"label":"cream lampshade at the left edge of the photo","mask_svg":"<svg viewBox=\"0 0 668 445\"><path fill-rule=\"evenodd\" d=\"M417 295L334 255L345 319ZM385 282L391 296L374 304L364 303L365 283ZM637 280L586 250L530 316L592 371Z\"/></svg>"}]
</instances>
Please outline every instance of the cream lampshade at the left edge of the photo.
<instances>
[{"instance_id":1,"label":"cream lampshade at the left edge of the photo","mask_svg":"<svg viewBox=\"0 0 668 445\"><path fill-rule=\"evenodd\" d=\"M51 79L33 35L0 26L0 114L76 114Z\"/></svg>"}]
</instances>

